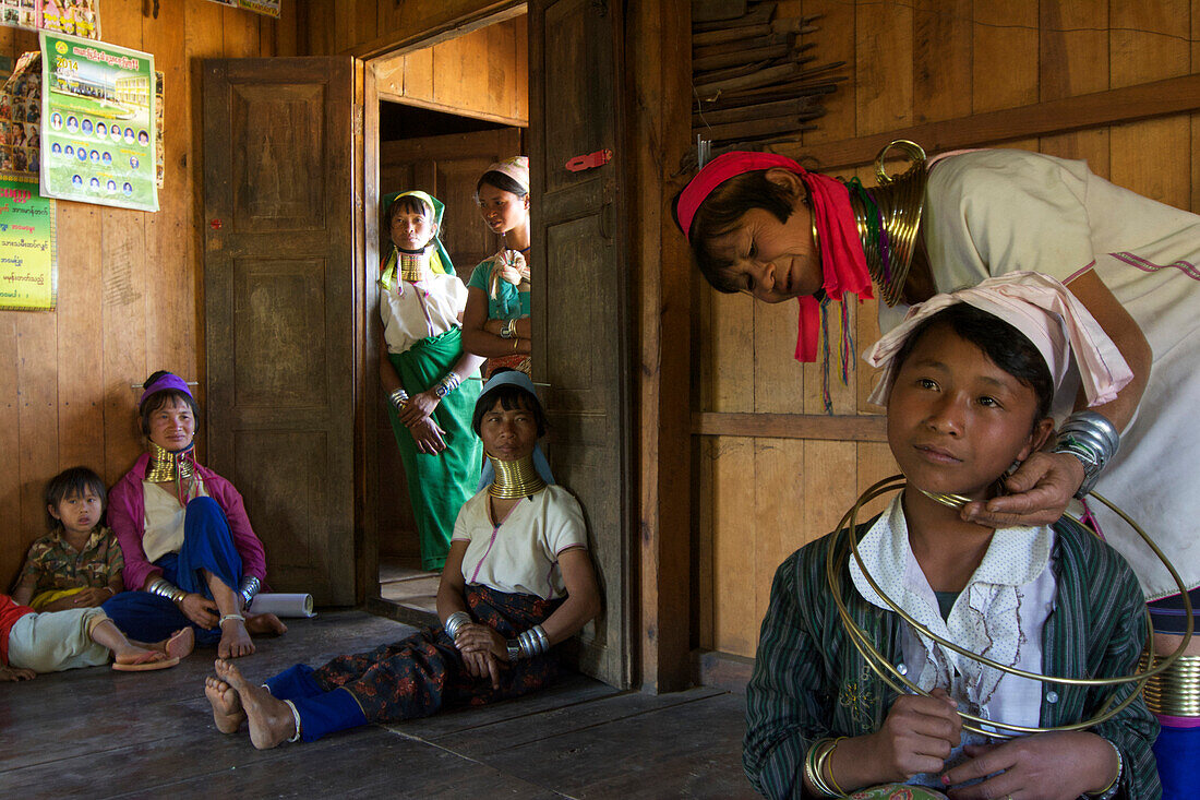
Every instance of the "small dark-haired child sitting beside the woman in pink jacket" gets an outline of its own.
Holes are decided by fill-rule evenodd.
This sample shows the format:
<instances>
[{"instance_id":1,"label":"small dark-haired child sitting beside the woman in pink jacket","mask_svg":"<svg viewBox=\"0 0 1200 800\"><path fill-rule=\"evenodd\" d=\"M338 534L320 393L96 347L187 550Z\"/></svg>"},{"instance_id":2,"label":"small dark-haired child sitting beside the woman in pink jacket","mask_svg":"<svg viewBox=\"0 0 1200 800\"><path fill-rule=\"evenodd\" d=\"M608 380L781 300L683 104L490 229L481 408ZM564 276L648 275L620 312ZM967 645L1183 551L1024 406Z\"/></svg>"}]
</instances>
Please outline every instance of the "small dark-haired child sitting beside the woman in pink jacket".
<instances>
[{"instance_id":1,"label":"small dark-haired child sitting beside the woman in pink jacket","mask_svg":"<svg viewBox=\"0 0 1200 800\"><path fill-rule=\"evenodd\" d=\"M125 589L121 547L101 519L104 482L88 467L50 478L46 511L53 530L34 542L12 598L35 611L100 605Z\"/></svg>"}]
</instances>

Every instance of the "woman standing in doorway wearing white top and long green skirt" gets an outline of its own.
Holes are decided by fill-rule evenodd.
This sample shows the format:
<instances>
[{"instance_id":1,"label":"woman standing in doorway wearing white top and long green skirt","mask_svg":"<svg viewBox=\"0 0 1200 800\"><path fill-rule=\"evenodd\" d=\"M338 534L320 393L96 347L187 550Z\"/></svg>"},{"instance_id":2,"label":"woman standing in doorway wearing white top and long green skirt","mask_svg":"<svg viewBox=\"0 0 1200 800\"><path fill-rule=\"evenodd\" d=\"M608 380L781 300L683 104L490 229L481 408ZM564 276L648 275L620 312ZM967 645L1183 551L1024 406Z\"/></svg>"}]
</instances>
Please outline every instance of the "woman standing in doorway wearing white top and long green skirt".
<instances>
[{"instance_id":1,"label":"woman standing in doorway wearing white top and long green skirt","mask_svg":"<svg viewBox=\"0 0 1200 800\"><path fill-rule=\"evenodd\" d=\"M403 192L388 207L392 253L379 275L383 352L379 382L404 464L421 542L421 568L442 569L450 527L479 480L479 438L470 412L484 359L463 351L467 287L454 274L438 229L444 207Z\"/></svg>"}]
</instances>

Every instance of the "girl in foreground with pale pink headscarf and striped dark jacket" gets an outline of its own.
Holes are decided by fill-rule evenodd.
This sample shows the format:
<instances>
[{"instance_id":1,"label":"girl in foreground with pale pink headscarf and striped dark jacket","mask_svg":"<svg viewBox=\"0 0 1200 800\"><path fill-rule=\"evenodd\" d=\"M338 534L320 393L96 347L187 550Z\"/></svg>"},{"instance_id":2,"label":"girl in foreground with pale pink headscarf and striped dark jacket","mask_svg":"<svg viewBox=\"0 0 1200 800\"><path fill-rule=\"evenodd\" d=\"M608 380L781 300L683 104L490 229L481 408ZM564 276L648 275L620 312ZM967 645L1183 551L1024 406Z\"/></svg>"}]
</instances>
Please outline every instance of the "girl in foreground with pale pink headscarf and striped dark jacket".
<instances>
[{"instance_id":1,"label":"girl in foreground with pale pink headscarf and striped dark jacket","mask_svg":"<svg viewBox=\"0 0 1200 800\"><path fill-rule=\"evenodd\" d=\"M1091 406L1111 401L1130 378L1116 346L1061 283L1015 273L913 308L866 358L884 368L871 400L887 405L907 483L854 530L860 562L842 529L775 573L746 689L751 783L773 798L1158 798L1157 724L1141 698L1090 722L1134 683L1026 679L929 635L1033 674L1135 670L1146 607L1116 551L1066 518L994 530L947 505L990 498L1042 447L1066 378L1082 382ZM835 598L920 693L898 694L876 675ZM1086 727L1003 740L964 730L959 711L994 733Z\"/></svg>"}]
</instances>

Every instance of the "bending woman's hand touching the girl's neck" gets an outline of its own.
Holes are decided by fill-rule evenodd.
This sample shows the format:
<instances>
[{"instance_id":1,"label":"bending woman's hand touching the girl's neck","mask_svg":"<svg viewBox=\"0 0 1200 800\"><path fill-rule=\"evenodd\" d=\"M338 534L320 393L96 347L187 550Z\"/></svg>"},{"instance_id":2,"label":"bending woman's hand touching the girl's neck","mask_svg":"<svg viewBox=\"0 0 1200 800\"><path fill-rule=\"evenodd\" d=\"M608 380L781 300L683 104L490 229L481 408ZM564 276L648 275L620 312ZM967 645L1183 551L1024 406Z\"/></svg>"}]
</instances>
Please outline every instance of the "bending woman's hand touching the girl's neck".
<instances>
[{"instance_id":1,"label":"bending woman's hand touching the girl's neck","mask_svg":"<svg viewBox=\"0 0 1200 800\"><path fill-rule=\"evenodd\" d=\"M1004 479L1007 495L962 507L967 523L988 527L1050 525L1084 483L1084 465L1069 453L1034 453Z\"/></svg>"}]
</instances>

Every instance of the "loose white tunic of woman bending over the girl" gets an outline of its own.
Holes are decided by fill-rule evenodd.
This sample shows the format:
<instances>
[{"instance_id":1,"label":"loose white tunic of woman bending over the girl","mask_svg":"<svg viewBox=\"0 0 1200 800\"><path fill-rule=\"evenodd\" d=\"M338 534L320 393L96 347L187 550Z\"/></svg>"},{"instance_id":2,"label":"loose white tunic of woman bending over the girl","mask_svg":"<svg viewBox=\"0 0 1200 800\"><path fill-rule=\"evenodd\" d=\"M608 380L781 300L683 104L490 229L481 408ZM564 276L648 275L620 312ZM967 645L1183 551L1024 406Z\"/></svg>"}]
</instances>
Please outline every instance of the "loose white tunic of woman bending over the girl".
<instances>
[{"instance_id":1,"label":"loose white tunic of woman bending over the girl","mask_svg":"<svg viewBox=\"0 0 1200 800\"><path fill-rule=\"evenodd\" d=\"M922 227L938 292L1033 270L1068 283L1093 269L1153 351L1150 382L1096 489L1141 525L1190 589L1200 585L1200 216L1116 186L1082 161L1024 150L947 156L930 169ZM887 332L907 306L880 304ZM1073 393L1060 393L1056 418ZM1090 502L1147 599L1178 591L1116 514Z\"/></svg>"}]
</instances>

